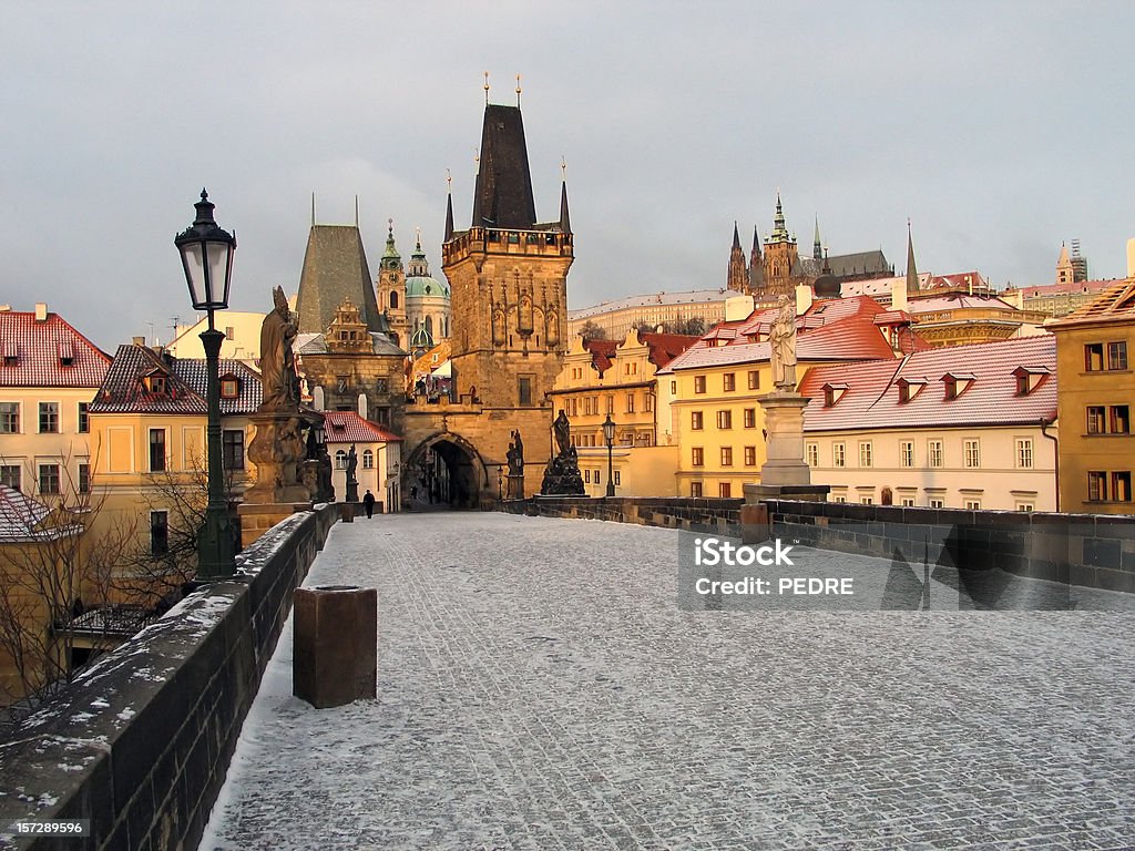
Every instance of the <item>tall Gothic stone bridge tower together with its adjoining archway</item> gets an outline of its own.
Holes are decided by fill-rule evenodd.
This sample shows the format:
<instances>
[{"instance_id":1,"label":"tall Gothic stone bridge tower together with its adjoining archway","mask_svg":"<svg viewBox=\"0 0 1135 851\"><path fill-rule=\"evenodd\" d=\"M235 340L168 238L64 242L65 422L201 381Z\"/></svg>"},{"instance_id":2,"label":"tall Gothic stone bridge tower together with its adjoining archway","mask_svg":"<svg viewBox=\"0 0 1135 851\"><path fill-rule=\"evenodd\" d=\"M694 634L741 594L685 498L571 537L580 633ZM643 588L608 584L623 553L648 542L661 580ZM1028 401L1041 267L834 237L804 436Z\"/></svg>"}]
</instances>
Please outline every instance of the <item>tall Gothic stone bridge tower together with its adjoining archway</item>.
<instances>
[{"instance_id":1,"label":"tall Gothic stone bridge tower together with its adjoining archway","mask_svg":"<svg viewBox=\"0 0 1135 851\"><path fill-rule=\"evenodd\" d=\"M540 486L574 256L566 184L558 218L536 219L519 106L486 103L479 163L470 226L454 229L451 195L442 247L452 396L406 407L403 496L413 487L454 506L497 498L513 432L524 445L526 492Z\"/></svg>"}]
</instances>

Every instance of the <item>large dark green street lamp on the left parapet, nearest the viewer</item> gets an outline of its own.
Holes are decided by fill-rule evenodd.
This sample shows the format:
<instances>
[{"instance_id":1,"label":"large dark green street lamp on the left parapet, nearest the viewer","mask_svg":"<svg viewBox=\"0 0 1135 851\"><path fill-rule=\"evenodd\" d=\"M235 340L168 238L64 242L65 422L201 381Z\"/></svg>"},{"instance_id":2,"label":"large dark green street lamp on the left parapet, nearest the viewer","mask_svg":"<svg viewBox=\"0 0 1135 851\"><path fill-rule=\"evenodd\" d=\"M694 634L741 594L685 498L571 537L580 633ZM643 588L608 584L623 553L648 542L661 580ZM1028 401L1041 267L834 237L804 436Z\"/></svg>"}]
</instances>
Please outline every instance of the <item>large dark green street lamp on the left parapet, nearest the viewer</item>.
<instances>
[{"instance_id":1,"label":"large dark green street lamp on the left parapet, nearest the viewer","mask_svg":"<svg viewBox=\"0 0 1135 851\"><path fill-rule=\"evenodd\" d=\"M201 332L205 349L205 399L209 407L209 506L197 534L197 580L211 582L236 573L233 528L225 499L221 470L220 438L220 343L225 335L213 328L213 311L228 307L228 287L233 279L233 253L236 237L217 227L213 204L201 189L201 200L194 204L197 217L184 231L174 237L174 245L182 253L185 281L190 286L190 301L194 310L209 313L209 330Z\"/></svg>"}]
</instances>

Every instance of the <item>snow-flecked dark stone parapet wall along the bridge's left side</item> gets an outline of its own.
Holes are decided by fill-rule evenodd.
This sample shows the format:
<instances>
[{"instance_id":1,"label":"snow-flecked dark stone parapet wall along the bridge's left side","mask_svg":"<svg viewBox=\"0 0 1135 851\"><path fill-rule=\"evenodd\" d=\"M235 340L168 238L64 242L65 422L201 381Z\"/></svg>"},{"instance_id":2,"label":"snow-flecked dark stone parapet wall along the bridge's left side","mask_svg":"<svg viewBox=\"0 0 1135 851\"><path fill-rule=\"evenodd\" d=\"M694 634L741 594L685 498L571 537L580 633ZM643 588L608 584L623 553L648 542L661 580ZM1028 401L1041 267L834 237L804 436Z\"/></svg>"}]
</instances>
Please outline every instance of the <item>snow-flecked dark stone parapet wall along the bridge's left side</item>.
<instances>
[{"instance_id":1,"label":"snow-flecked dark stone parapet wall along the bridge's left side","mask_svg":"<svg viewBox=\"0 0 1135 851\"><path fill-rule=\"evenodd\" d=\"M336 506L284 520L237 557L241 575L192 593L0 743L0 844L195 848L294 590L336 520ZM91 835L3 833L27 818L90 819Z\"/></svg>"}]
</instances>

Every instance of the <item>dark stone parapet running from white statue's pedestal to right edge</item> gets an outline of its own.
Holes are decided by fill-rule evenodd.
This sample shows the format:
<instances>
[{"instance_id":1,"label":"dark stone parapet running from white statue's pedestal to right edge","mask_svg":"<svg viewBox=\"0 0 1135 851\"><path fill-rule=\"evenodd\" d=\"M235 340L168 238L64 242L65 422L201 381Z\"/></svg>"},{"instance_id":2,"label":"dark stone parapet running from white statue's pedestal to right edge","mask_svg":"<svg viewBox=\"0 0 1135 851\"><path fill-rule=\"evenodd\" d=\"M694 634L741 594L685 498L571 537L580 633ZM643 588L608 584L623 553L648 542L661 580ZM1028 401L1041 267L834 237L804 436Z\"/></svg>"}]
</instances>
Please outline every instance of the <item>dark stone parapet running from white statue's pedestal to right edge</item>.
<instances>
[{"instance_id":1,"label":"dark stone parapet running from white statue's pedestal to right edge","mask_svg":"<svg viewBox=\"0 0 1135 851\"><path fill-rule=\"evenodd\" d=\"M1135 592L1135 516L964 511L768 499L771 529L746 529L911 564L999 568L1033 579Z\"/></svg>"}]
</instances>

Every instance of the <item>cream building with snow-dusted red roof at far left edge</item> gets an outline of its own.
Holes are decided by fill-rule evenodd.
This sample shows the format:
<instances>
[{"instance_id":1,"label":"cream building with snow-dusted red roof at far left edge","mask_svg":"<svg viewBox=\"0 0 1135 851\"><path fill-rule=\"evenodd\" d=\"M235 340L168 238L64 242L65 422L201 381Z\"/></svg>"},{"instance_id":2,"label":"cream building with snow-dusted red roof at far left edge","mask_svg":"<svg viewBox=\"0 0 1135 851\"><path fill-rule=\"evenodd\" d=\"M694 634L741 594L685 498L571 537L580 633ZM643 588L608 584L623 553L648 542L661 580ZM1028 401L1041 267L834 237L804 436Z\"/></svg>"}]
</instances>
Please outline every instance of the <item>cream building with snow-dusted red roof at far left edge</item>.
<instances>
[{"instance_id":1,"label":"cream building with snow-dusted red roof at far left edge","mask_svg":"<svg viewBox=\"0 0 1135 851\"><path fill-rule=\"evenodd\" d=\"M90 404L109 366L47 304L0 310L0 485L47 497L90 488Z\"/></svg>"}]
</instances>

